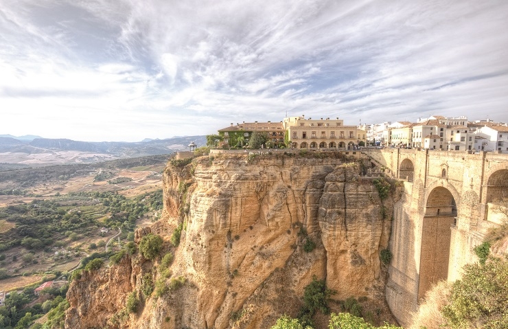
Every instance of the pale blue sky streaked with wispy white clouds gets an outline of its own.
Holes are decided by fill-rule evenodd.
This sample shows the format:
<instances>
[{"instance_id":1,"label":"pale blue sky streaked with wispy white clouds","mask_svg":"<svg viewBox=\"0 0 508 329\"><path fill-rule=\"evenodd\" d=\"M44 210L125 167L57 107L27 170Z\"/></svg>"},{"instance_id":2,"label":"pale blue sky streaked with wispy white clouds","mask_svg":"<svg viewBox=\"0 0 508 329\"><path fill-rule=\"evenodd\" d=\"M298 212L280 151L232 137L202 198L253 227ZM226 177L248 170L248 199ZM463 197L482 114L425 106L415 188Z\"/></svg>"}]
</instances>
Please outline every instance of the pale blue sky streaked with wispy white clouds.
<instances>
[{"instance_id":1,"label":"pale blue sky streaked with wispy white clouds","mask_svg":"<svg viewBox=\"0 0 508 329\"><path fill-rule=\"evenodd\" d=\"M0 0L0 135L508 122L506 0Z\"/></svg>"}]
</instances>

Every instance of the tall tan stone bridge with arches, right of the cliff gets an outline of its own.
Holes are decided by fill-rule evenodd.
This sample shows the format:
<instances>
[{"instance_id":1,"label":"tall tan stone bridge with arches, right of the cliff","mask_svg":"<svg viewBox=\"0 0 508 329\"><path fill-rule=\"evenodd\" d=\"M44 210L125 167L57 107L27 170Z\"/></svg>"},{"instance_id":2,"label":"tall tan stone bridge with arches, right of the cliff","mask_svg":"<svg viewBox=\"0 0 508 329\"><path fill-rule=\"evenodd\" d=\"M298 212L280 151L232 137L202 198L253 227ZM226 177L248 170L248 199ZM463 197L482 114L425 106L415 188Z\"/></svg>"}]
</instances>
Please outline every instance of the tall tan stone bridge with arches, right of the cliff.
<instances>
[{"instance_id":1,"label":"tall tan stone bridge with arches, right of the cliff","mask_svg":"<svg viewBox=\"0 0 508 329\"><path fill-rule=\"evenodd\" d=\"M459 279L476 262L473 248L498 226L508 201L508 155L367 148L373 166L404 181L395 205L386 301L400 324L432 284ZM506 208L504 208L506 209Z\"/></svg>"}]
</instances>

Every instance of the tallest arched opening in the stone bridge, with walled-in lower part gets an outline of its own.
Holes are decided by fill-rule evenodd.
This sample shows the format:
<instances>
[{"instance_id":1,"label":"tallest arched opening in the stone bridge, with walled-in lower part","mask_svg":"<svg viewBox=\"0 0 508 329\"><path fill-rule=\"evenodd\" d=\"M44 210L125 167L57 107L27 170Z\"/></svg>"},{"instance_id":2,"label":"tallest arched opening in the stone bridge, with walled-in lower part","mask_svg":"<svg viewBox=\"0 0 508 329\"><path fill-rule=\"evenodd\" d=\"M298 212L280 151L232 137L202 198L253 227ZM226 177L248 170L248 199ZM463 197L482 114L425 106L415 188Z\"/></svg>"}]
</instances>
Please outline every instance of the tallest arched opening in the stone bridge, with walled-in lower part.
<instances>
[{"instance_id":1,"label":"tallest arched opening in the stone bridge, with walled-in lower part","mask_svg":"<svg viewBox=\"0 0 508 329\"><path fill-rule=\"evenodd\" d=\"M428 194L422 223L422 248L418 282L418 299L439 280L448 278L451 225L457 216L452 192L437 186Z\"/></svg>"}]
</instances>

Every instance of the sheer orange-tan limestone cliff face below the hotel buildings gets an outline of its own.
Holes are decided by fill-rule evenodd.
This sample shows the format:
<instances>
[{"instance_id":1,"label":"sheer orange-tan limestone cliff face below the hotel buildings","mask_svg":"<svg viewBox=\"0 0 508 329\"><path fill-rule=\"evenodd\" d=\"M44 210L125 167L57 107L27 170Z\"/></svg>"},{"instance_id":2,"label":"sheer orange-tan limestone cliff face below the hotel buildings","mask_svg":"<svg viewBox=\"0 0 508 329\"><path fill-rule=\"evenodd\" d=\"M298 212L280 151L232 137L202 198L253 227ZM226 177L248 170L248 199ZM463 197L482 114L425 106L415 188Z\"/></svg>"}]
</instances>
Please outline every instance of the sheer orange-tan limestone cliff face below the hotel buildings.
<instances>
[{"instance_id":1,"label":"sheer orange-tan limestone cliff face below the hotel buildings","mask_svg":"<svg viewBox=\"0 0 508 329\"><path fill-rule=\"evenodd\" d=\"M182 223L180 245L167 249L172 277L187 282L158 299L152 294L114 324L108 317L147 273L160 276L157 260L125 259L71 285L66 328L269 328L284 313L297 315L313 275L325 278L336 299L383 299L379 252L389 238L390 215L383 214L391 214L391 201L382 205L372 179L358 172L341 159L281 155L168 166L163 218L137 231L137 240L152 231L169 241ZM316 248L305 252L308 241Z\"/></svg>"}]
</instances>

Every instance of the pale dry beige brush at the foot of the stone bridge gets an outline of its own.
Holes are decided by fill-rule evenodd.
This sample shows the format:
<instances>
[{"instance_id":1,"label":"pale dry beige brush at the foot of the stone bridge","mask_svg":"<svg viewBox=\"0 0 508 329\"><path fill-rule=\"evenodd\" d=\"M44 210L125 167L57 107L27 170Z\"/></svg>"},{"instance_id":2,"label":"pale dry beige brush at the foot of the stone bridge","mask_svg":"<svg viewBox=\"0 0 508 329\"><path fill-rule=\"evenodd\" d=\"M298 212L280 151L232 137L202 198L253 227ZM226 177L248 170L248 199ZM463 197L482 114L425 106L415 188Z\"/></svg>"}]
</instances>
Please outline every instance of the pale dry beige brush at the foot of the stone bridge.
<instances>
[{"instance_id":1,"label":"pale dry beige brush at the foot of the stone bridge","mask_svg":"<svg viewBox=\"0 0 508 329\"><path fill-rule=\"evenodd\" d=\"M413 317L413 324L408 329L441 329L448 328L446 320L441 315L441 308L450 300L452 284L440 281L426 293L424 302L420 304L418 313Z\"/></svg>"}]
</instances>

